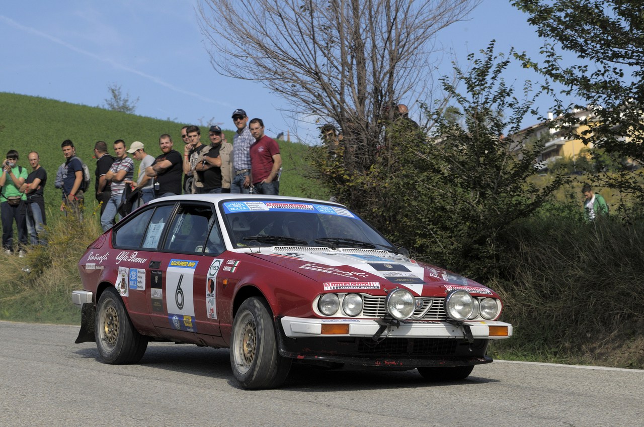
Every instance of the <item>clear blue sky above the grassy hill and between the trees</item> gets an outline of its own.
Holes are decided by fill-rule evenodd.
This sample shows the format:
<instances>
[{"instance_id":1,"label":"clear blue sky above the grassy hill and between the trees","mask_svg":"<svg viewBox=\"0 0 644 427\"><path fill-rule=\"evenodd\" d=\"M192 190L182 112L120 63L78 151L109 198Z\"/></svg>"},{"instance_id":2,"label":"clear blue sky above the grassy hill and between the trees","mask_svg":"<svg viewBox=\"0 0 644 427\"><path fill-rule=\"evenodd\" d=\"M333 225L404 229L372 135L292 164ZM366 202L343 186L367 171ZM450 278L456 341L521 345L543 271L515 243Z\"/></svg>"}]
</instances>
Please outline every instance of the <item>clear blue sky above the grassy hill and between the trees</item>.
<instances>
[{"instance_id":1,"label":"clear blue sky above the grassy hill and between the trees","mask_svg":"<svg viewBox=\"0 0 644 427\"><path fill-rule=\"evenodd\" d=\"M222 77L211 66L196 20L197 0L22 0L0 10L0 91L91 106L108 98L108 84L139 98L137 114L182 123L222 123L244 108L263 118L267 134L294 134L280 112L287 103L260 84ZM223 22L222 18L222 24ZM499 51L541 46L526 15L507 0L484 0L468 21L439 33L440 46L464 62L497 40ZM440 70L450 70L444 56ZM511 68L506 80L536 77ZM409 102L414 114L413 102ZM542 107L545 114L547 103ZM536 121L536 119L534 120ZM527 120L530 124L533 120ZM179 140L178 129L168 129ZM97 136L100 138L100 136Z\"/></svg>"}]
</instances>

